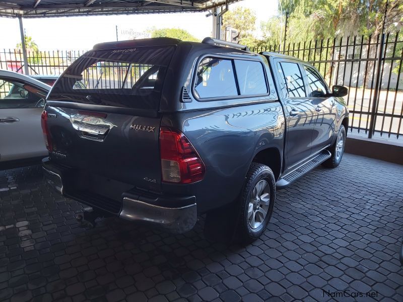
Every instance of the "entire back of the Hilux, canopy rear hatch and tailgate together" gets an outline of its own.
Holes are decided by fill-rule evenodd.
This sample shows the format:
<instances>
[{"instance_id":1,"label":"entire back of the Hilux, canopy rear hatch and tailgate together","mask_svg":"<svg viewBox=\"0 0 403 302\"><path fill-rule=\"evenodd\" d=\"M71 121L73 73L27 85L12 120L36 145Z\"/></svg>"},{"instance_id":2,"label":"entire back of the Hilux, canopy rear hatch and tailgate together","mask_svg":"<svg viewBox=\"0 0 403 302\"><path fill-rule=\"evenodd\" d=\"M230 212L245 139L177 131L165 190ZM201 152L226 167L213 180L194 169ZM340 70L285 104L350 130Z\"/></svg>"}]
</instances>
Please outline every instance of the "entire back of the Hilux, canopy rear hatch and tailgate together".
<instances>
[{"instance_id":1,"label":"entire back of the Hilux, canopy rear hatch and tailgate together","mask_svg":"<svg viewBox=\"0 0 403 302\"><path fill-rule=\"evenodd\" d=\"M147 190L161 182L159 102L174 47L92 50L53 86L47 101L51 161L84 178Z\"/></svg>"}]
</instances>

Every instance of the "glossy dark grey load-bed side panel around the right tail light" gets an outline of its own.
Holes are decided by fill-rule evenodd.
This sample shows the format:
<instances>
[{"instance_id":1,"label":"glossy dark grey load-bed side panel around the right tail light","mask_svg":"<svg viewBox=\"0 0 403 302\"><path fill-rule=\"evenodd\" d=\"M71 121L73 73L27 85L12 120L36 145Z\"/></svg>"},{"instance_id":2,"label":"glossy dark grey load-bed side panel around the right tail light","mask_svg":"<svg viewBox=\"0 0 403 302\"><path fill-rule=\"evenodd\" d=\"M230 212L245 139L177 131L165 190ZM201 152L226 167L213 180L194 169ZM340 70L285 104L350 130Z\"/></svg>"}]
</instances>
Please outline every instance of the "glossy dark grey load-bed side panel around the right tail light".
<instances>
[{"instance_id":1,"label":"glossy dark grey load-bed side panel around the right tail light","mask_svg":"<svg viewBox=\"0 0 403 302\"><path fill-rule=\"evenodd\" d=\"M278 101L167 113L161 125L181 130L206 165L204 180L190 185L162 183L162 191L195 195L199 212L237 198L260 150L276 147L282 156L285 123Z\"/></svg>"}]
</instances>

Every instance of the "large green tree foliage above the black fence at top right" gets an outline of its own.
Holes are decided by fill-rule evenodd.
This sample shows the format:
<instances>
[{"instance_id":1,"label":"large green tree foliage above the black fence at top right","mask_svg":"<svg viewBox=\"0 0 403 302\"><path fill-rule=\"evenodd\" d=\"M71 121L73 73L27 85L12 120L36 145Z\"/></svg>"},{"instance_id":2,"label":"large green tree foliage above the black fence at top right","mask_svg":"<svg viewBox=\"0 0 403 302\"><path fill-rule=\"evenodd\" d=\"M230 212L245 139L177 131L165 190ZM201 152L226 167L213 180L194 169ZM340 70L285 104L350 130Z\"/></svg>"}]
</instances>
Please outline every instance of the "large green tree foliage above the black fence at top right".
<instances>
[{"instance_id":1,"label":"large green tree foliage above the black fence at top right","mask_svg":"<svg viewBox=\"0 0 403 302\"><path fill-rule=\"evenodd\" d=\"M335 35L379 34L385 16L386 0L280 0L283 13L289 13L289 34L293 42ZM403 0L389 0L384 31L402 25Z\"/></svg>"}]
</instances>

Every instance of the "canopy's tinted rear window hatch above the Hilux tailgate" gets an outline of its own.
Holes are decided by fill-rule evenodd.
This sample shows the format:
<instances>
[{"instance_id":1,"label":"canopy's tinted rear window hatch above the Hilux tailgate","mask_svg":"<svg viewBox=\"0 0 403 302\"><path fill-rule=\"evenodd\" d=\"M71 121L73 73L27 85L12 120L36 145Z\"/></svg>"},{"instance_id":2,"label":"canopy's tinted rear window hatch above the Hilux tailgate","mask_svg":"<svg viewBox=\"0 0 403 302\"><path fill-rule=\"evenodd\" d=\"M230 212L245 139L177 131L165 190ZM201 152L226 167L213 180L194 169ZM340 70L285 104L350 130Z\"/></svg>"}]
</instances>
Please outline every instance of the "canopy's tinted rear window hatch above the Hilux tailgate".
<instances>
[{"instance_id":1,"label":"canopy's tinted rear window hatch above the Hilux tailgate","mask_svg":"<svg viewBox=\"0 0 403 302\"><path fill-rule=\"evenodd\" d=\"M91 50L74 61L48 100L158 109L174 46Z\"/></svg>"}]
</instances>

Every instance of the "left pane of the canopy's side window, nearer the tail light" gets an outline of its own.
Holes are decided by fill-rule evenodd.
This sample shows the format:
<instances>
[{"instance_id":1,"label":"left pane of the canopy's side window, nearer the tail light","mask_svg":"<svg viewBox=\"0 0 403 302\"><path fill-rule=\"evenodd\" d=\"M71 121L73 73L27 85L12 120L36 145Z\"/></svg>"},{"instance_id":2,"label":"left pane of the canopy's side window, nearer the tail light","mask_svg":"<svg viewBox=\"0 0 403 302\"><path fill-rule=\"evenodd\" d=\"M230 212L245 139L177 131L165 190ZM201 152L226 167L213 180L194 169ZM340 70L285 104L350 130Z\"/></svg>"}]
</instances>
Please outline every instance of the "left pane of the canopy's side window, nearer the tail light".
<instances>
[{"instance_id":1,"label":"left pane of the canopy's side window, nearer the tail light","mask_svg":"<svg viewBox=\"0 0 403 302\"><path fill-rule=\"evenodd\" d=\"M232 60L203 59L197 67L194 91L199 98L237 96Z\"/></svg>"}]
</instances>

